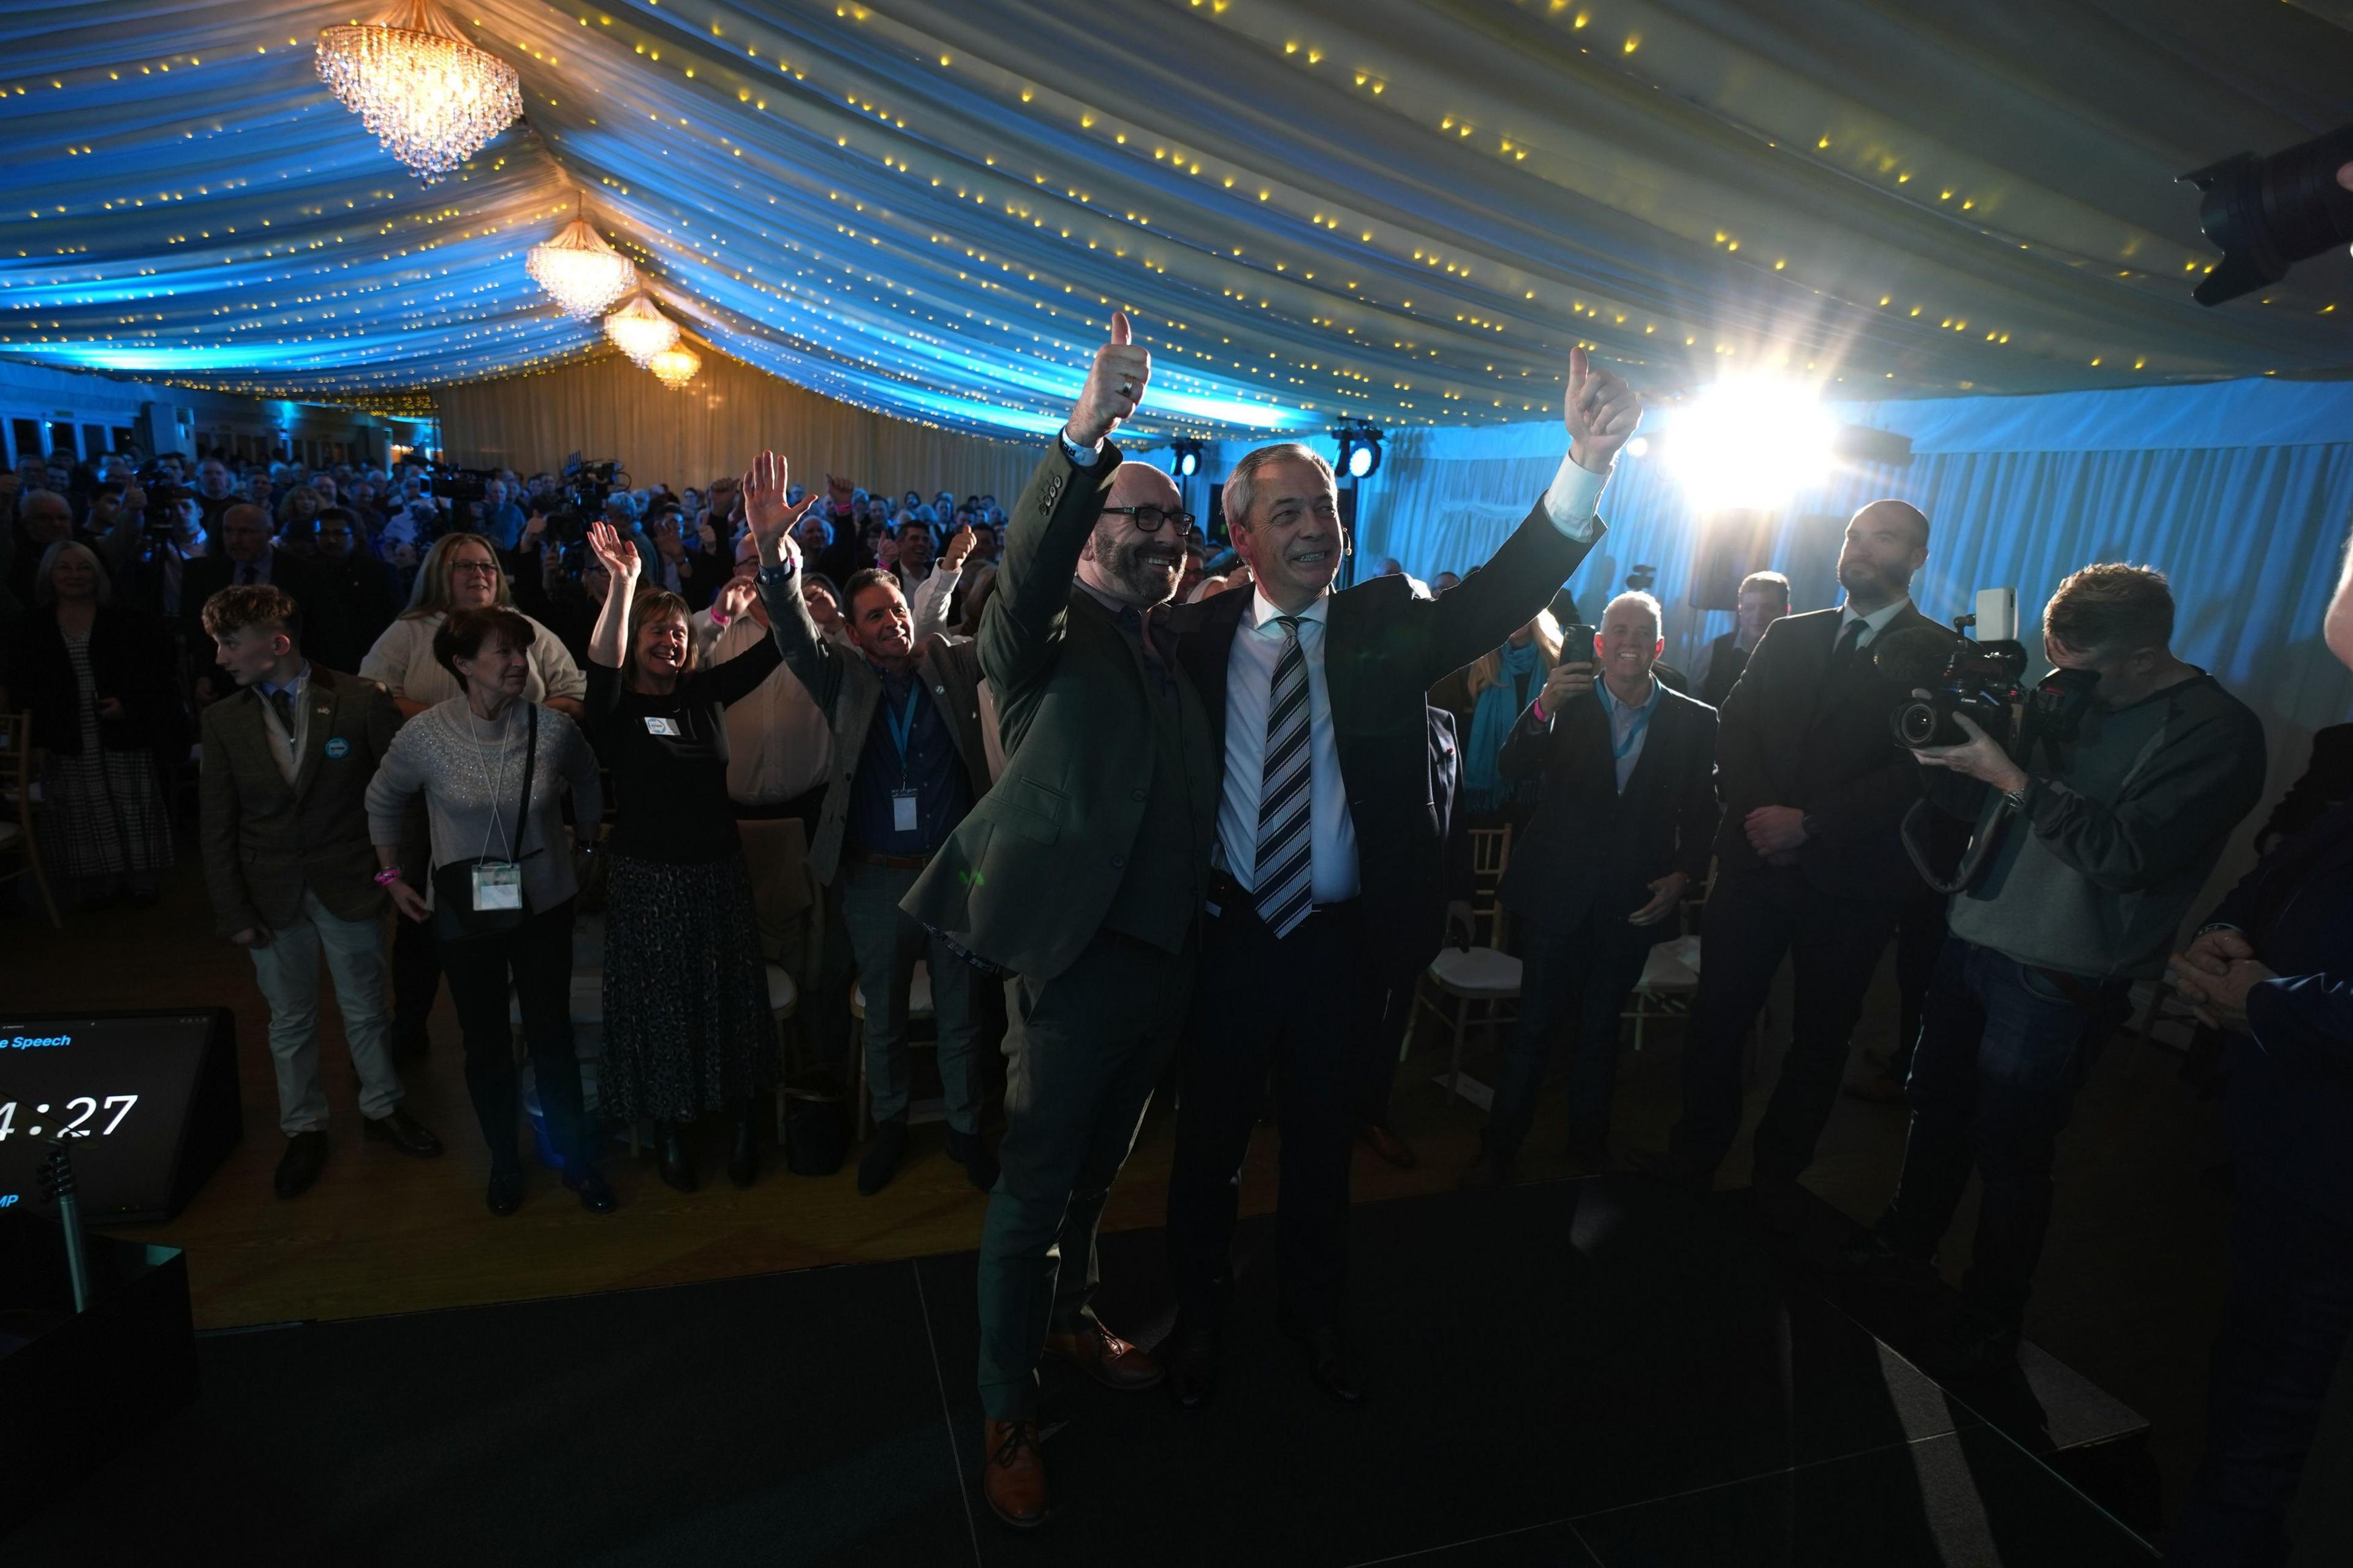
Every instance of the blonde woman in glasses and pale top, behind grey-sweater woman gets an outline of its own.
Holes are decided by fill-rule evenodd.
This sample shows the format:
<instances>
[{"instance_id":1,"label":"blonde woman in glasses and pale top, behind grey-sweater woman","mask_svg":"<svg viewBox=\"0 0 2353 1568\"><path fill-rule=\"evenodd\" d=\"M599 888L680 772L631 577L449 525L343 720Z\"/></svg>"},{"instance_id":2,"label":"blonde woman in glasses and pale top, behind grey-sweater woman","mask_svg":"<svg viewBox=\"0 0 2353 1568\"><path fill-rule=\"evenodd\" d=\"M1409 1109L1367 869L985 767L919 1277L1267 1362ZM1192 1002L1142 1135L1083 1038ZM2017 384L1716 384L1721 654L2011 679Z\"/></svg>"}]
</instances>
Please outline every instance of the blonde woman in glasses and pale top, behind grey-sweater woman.
<instances>
[{"instance_id":1,"label":"blonde woman in glasses and pale top, behind grey-sweater woman","mask_svg":"<svg viewBox=\"0 0 2353 1568\"><path fill-rule=\"evenodd\" d=\"M456 610L515 610L515 593L499 567L499 551L482 534L442 534L416 567L409 607L384 629L376 645L360 659L365 680L381 680L402 718L416 718L435 704L464 697L459 680L433 657L433 638ZM520 614L520 610L518 610ZM525 650L529 678L522 699L555 709L565 718L586 718L581 699L588 683L565 652L562 638L522 617L532 626ZM595 824L581 822L584 843L595 838ZM426 817L409 812L409 831L400 841L402 876L424 892ZM426 1015L440 991L440 949L424 921L393 921L393 1055L426 1050Z\"/></svg>"}]
</instances>

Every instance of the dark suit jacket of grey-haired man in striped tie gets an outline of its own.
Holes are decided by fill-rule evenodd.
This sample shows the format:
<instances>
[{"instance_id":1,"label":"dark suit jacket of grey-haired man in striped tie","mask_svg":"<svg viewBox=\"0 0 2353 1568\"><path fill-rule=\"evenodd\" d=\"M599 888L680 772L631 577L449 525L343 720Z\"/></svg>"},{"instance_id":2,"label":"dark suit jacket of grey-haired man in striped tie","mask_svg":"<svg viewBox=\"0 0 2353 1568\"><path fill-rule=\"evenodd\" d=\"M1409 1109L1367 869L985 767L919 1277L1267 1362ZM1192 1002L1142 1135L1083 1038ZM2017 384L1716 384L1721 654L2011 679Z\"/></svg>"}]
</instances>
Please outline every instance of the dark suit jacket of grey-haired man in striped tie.
<instances>
[{"instance_id":1,"label":"dark suit jacket of grey-haired man in striped tie","mask_svg":"<svg viewBox=\"0 0 2353 1568\"><path fill-rule=\"evenodd\" d=\"M1605 527L1569 539L1539 497L1485 567L1442 598L1409 577L1374 577L1332 596L1325 687L1339 772L1355 826L1355 862L1384 975L1409 975L1445 939L1447 817L1431 779L1428 690L1537 617ZM1000 593L1002 598L1002 593ZM1214 756L1226 756L1226 659L1254 593L1219 593L1169 614L1176 657L1209 704Z\"/></svg>"}]
</instances>

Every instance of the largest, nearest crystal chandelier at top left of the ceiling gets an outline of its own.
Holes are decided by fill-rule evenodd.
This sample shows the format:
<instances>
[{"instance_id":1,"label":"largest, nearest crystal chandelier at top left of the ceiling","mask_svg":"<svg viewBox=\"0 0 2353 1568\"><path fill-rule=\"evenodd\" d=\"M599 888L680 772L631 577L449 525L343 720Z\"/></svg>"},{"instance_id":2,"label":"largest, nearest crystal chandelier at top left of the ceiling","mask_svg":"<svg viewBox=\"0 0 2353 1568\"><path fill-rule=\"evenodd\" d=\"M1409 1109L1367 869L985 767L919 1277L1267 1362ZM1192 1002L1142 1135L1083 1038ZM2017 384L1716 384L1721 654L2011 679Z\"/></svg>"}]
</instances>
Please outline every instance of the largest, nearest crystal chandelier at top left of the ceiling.
<instances>
[{"instance_id":1,"label":"largest, nearest crystal chandelier at top left of the ceiling","mask_svg":"<svg viewBox=\"0 0 2353 1568\"><path fill-rule=\"evenodd\" d=\"M318 75L428 186L522 113L515 68L473 47L433 0L322 31Z\"/></svg>"}]
</instances>

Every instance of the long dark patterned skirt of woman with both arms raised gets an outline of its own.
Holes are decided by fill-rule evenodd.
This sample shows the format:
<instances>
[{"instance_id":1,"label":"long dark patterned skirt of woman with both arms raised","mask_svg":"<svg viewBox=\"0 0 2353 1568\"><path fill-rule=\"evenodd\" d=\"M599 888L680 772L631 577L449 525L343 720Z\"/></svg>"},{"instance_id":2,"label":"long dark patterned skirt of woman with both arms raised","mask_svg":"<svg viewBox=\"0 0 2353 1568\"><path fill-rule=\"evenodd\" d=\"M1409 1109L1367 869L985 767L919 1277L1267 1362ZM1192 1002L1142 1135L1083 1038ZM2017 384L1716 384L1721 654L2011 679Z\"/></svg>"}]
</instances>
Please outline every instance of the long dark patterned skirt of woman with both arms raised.
<instances>
[{"instance_id":1,"label":"long dark patterned skirt of woman with both arms raised","mask_svg":"<svg viewBox=\"0 0 2353 1568\"><path fill-rule=\"evenodd\" d=\"M678 866L614 855L605 899L605 1109L694 1121L776 1088L744 857Z\"/></svg>"}]
</instances>

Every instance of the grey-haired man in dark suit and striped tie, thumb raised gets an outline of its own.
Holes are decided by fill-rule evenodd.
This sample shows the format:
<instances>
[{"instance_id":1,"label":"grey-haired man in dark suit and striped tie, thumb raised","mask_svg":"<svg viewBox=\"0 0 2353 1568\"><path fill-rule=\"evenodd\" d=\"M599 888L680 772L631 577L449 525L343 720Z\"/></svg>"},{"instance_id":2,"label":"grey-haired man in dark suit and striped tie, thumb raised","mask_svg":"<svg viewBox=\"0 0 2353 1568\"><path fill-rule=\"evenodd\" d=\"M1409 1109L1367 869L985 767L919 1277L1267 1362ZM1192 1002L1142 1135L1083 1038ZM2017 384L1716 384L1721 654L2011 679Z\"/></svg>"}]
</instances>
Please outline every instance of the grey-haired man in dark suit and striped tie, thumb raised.
<instances>
[{"instance_id":1,"label":"grey-haired man in dark suit and striped tie, thumb raised","mask_svg":"<svg viewBox=\"0 0 2353 1568\"><path fill-rule=\"evenodd\" d=\"M1445 598L1409 577L1332 593L1348 539L1332 466L1308 447L1259 447L1226 480L1257 586L1169 617L1224 758L1169 1175L1181 1408L1217 1387L1240 1168L1268 1071L1282 1328L1318 1387L1360 1396L1339 1326L1360 1064L1388 982L1428 958L1445 921L1424 695L1525 626L1586 558L1602 532L1593 504L1640 412L1624 379L1574 351L1569 457L1494 560Z\"/></svg>"}]
</instances>

